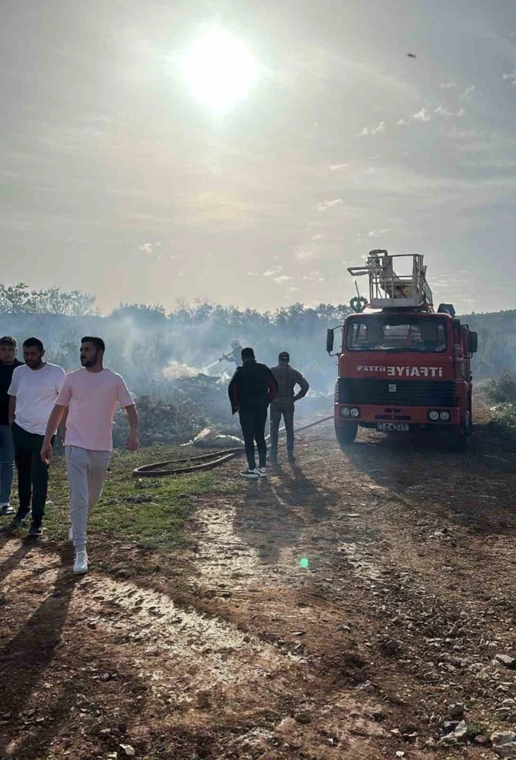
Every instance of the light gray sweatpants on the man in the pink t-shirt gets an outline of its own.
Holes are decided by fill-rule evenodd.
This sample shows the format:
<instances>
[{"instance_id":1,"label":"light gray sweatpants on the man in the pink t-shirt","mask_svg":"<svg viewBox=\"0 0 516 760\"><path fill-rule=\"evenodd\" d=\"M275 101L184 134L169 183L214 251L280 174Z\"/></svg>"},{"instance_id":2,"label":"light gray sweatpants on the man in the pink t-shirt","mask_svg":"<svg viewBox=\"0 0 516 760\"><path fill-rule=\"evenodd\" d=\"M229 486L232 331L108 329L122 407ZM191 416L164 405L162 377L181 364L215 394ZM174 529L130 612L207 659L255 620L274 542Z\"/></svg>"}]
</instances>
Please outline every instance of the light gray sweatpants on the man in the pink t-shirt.
<instances>
[{"instance_id":1,"label":"light gray sweatpants on the man in the pink t-shirt","mask_svg":"<svg viewBox=\"0 0 516 760\"><path fill-rule=\"evenodd\" d=\"M90 451L80 446L65 446L65 454L74 546L81 551L86 548L88 515L100 499L111 451Z\"/></svg>"}]
</instances>

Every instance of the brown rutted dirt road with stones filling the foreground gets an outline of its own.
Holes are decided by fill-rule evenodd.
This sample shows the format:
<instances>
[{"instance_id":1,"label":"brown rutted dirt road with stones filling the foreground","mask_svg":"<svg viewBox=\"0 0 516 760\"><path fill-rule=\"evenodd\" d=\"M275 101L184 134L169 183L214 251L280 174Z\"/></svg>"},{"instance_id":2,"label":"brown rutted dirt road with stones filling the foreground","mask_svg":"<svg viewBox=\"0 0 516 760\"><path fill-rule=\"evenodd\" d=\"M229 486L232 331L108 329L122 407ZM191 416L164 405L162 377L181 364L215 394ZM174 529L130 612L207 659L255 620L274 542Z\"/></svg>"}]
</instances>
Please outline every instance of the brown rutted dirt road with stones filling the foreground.
<instances>
[{"instance_id":1,"label":"brown rutted dirt road with stones filling the foreground","mask_svg":"<svg viewBox=\"0 0 516 760\"><path fill-rule=\"evenodd\" d=\"M68 547L2 539L1 756L496 757L516 453L480 419L467 454L373 433L342 454L330 425L297 455L236 495L241 463L220 470L176 557L97 545L77 580Z\"/></svg>"}]
</instances>

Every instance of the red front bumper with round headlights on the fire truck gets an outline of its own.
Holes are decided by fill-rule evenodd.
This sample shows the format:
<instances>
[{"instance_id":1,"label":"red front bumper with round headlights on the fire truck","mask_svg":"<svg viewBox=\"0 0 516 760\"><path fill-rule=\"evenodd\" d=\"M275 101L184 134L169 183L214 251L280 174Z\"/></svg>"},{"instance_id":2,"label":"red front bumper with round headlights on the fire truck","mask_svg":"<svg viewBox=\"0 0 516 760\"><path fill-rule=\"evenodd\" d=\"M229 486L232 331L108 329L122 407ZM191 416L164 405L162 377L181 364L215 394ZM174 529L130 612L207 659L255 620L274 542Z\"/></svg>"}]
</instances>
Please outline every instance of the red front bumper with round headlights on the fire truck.
<instances>
[{"instance_id":1,"label":"red front bumper with round headlights on the fire truck","mask_svg":"<svg viewBox=\"0 0 516 760\"><path fill-rule=\"evenodd\" d=\"M461 422L458 407L380 407L368 404L335 404L335 426L358 423L378 430L409 432L457 426ZM390 424L389 424L390 423Z\"/></svg>"}]
</instances>

